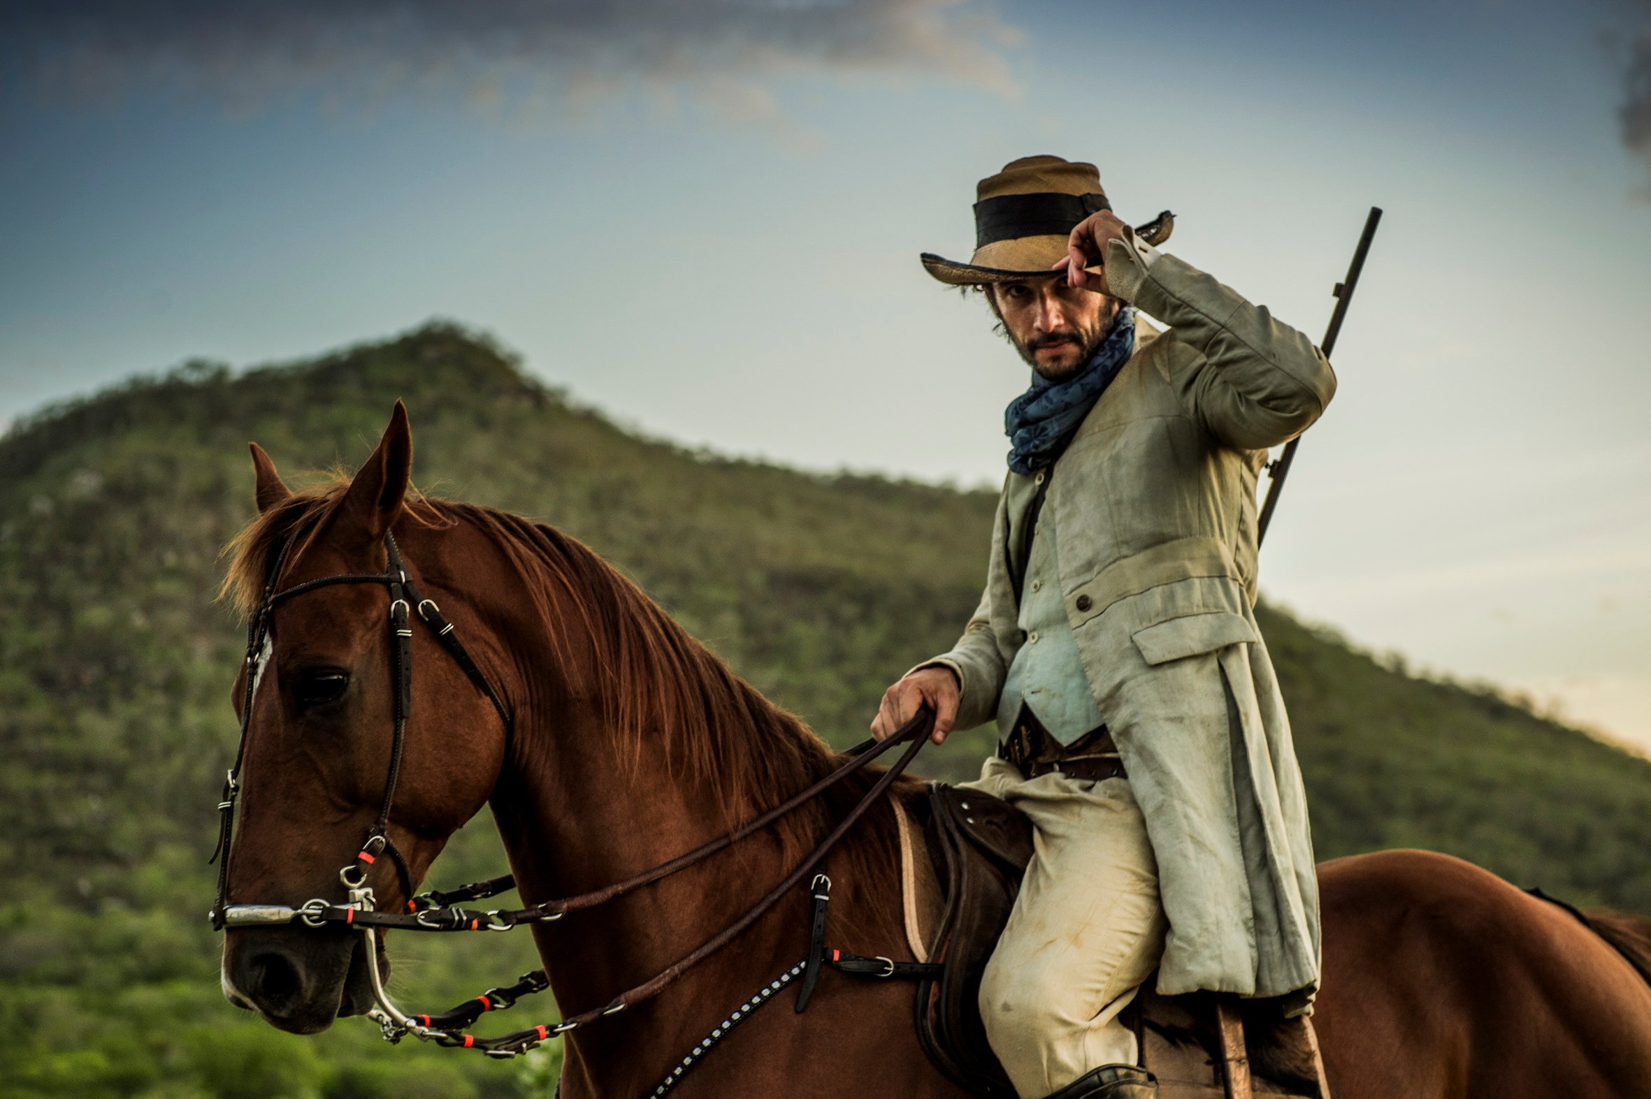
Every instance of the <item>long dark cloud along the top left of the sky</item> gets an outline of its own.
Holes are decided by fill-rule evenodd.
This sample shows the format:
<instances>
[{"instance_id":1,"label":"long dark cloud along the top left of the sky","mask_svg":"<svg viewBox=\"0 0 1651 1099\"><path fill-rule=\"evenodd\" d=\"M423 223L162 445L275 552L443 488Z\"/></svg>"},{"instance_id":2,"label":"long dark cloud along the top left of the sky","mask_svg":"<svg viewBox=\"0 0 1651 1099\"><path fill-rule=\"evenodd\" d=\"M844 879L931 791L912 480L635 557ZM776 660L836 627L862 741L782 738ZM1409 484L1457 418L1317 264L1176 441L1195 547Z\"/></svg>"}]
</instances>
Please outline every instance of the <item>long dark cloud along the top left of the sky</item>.
<instances>
[{"instance_id":1,"label":"long dark cloud along the top left of the sky","mask_svg":"<svg viewBox=\"0 0 1651 1099\"><path fill-rule=\"evenodd\" d=\"M424 92L580 104L642 86L773 111L778 76L925 76L1010 89L1010 31L958 0L0 0L40 91L170 91L231 109Z\"/></svg>"}]
</instances>

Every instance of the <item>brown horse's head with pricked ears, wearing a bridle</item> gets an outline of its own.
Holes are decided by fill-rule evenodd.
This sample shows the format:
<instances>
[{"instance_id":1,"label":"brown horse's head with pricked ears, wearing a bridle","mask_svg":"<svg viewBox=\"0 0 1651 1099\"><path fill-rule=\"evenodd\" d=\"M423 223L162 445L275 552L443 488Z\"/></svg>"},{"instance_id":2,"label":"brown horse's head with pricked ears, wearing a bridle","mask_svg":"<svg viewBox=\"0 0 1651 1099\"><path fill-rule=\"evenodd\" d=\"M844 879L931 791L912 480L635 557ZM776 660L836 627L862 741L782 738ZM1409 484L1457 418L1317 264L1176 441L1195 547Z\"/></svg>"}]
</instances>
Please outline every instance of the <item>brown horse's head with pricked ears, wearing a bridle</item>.
<instances>
[{"instance_id":1,"label":"brown horse's head with pricked ears, wearing a bridle","mask_svg":"<svg viewBox=\"0 0 1651 1099\"><path fill-rule=\"evenodd\" d=\"M312 898L347 903L340 868L355 866L373 889L378 911L406 911L408 884L487 800L505 751L505 731L489 698L418 624L403 604L396 634L388 578L391 528L418 540L404 515L413 462L406 409L396 403L390 427L348 485L294 493L254 444L259 518L239 540L243 587L274 592L322 578L358 576L279 597L267 614L267 642L248 691L248 668L234 700L244 713L236 825L220 904L299 908ZM398 526L400 523L400 526ZM438 561L433 543L426 573L451 578L461 561ZM418 579L416 561L404 561ZM256 579L251 579L256 576ZM233 578L231 578L233 579ZM434 579L421 584L436 594ZM446 594L446 589L441 589ZM249 602L243 597L243 604ZM258 599L256 602L263 602ZM411 620L406 616L408 611ZM451 609L449 609L451 612ZM398 675L396 649L408 644L411 670ZM396 743L398 683L409 685L403 748L383 842L368 842L381 812ZM246 701L249 700L249 701ZM363 848L368 860L357 858ZM314 1033L337 1015L371 1005L365 937L329 924L231 924L223 950L223 987L231 1003L254 1008L281 1030Z\"/></svg>"}]
</instances>

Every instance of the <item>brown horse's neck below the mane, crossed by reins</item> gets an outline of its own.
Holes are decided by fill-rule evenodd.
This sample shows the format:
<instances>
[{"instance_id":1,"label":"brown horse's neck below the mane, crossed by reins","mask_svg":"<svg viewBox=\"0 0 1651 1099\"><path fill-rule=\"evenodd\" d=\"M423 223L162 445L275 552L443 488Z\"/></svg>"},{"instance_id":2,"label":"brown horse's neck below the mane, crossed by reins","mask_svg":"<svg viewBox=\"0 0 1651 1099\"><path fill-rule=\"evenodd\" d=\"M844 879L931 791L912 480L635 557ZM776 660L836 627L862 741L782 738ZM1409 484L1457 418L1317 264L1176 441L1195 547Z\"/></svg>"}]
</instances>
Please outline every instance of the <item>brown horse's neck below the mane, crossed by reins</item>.
<instances>
[{"instance_id":1,"label":"brown horse's neck below the mane, crossed by reins","mask_svg":"<svg viewBox=\"0 0 1651 1099\"><path fill-rule=\"evenodd\" d=\"M556 629L588 622L581 614L555 614ZM510 695L515 713L515 743L494 792L492 809L510 853L512 870L528 904L571 896L622 881L700 843L723 835L736 818L751 818L794 789L745 789L736 797L715 784L725 774L697 777L693 767L670 759L660 744L657 724L642 739L641 752L621 744L608 728L599 705L581 683L596 682L608 668L594 665L601 645L584 637L551 637L542 619L515 617L505 642L512 652ZM551 655L556 653L556 655ZM581 663L583 662L583 663ZM566 663L553 668L550 665ZM702 698L712 713L726 713L721 703L750 705L746 686L713 677L695 683L690 696ZM740 691L738 698L728 691ZM748 711L755 713L755 711ZM756 713L756 721L763 715ZM740 726L740 728L733 728ZM721 733L764 738L801 734L794 728L743 728L725 723ZM680 744L679 744L680 748ZM791 746L796 748L794 744ZM821 757L806 767L824 767ZM801 789L799 776L741 781L746 787L789 785ZM809 814L809 809L799 814ZM834 860L852 858L852 848L877 843L893 847L893 822L887 809L873 812ZM873 838L877 837L877 838ZM796 847L792 837L791 847ZM863 847L863 851L872 850ZM791 860L801 853L792 850ZM834 927L860 946L893 950L898 936L898 884L885 856L859 858L855 865L878 873L854 873L834 889ZM621 992L636 987L730 926L778 884L789 870L784 845L774 832L763 832L733 850L684 870L598 908L533 927L533 936L550 972L563 1015L604 1007ZM776 974L802 957L807 941L806 896L794 889L764 919L688 970L657 1000L613 1020L599 1020L571 1035L568 1078L583 1081L578 1094L634 1094L652 1089L647 1073L664 1071L743 997L766 985ZM784 1013L783 1018L791 1018ZM641 1087L646 1084L646 1087Z\"/></svg>"}]
</instances>

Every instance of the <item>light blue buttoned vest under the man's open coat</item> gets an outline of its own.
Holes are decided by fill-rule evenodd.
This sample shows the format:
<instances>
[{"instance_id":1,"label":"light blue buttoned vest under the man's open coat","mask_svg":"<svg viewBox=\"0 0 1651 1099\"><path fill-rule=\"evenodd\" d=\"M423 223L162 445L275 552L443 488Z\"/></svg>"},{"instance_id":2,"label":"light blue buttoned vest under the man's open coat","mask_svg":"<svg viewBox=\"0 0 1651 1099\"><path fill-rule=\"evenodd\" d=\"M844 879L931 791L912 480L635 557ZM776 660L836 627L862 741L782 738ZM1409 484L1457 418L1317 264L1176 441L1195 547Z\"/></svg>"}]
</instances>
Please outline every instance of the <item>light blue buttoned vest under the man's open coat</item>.
<instances>
[{"instance_id":1,"label":"light blue buttoned vest under the man's open coat","mask_svg":"<svg viewBox=\"0 0 1651 1099\"><path fill-rule=\"evenodd\" d=\"M1004 693L997 700L997 738L1009 739L1025 703L1057 741L1071 744L1101 724L1101 711L1090 695L1090 680L1078 660L1078 642L1060 596L1055 508L1042 508L1032 531L1032 553L1027 554L1027 578L1020 589L1020 630L1025 642L1009 665Z\"/></svg>"}]
</instances>

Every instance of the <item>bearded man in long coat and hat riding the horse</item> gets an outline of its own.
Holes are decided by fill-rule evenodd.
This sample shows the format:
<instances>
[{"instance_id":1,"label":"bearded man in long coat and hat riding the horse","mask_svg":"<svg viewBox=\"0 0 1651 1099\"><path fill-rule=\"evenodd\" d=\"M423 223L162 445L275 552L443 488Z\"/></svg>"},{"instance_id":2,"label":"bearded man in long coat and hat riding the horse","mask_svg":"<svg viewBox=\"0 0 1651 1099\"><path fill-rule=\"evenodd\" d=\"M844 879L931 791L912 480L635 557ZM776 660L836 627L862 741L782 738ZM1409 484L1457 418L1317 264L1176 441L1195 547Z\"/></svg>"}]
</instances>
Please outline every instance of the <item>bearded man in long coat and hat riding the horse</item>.
<instances>
[{"instance_id":1,"label":"bearded man in long coat and hat riding the horse","mask_svg":"<svg viewBox=\"0 0 1651 1099\"><path fill-rule=\"evenodd\" d=\"M1157 251L1167 219L1119 221L1095 165L1025 157L977 198L971 261L923 266L984 292L1032 386L1005 414L979 609L872 731L925 703L936 741L997 723L972 785L1030 817L1037 853L981 1012L1020 1096L1156 1094L1119 1020L1154 969L1166 995L1251 1000L1311 1086L1319 896L1251 612L1255 488L1336 376L1313 340Z\"/></svg>"}]
</instances>

